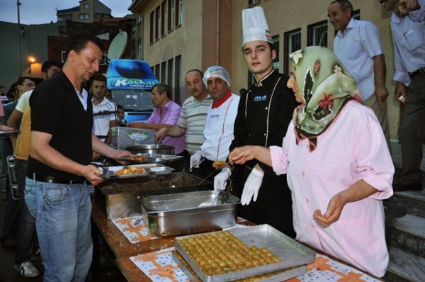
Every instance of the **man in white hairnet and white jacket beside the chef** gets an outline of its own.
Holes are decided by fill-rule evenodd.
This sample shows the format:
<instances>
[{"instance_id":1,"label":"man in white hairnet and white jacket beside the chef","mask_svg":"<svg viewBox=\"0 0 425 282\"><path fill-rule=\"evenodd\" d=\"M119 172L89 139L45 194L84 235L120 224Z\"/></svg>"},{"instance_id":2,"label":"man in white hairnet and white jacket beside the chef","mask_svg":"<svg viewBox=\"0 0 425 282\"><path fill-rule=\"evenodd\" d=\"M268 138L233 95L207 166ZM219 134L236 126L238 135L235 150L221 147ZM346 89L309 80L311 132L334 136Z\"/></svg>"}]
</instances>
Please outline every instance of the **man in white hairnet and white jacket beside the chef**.
<instances>
[{"instance_id":1,"label":"man in white hairnet and white jacket beside the chef","mask_svg":"<svg viewBox=\"0 0 425 282\"><path fill-rule=\"evenodd\" d=\"M225 162L232 142L234 119L239 96L230 92L230 76L224 67L208 67L203 77L212 104L205 121L205 142L191 157L193 174L205 178L216 170L218 162ZM218 172L218 171L217 171ZM210 175L212 178L212 175Z\"/></svg>"}]
</instances>

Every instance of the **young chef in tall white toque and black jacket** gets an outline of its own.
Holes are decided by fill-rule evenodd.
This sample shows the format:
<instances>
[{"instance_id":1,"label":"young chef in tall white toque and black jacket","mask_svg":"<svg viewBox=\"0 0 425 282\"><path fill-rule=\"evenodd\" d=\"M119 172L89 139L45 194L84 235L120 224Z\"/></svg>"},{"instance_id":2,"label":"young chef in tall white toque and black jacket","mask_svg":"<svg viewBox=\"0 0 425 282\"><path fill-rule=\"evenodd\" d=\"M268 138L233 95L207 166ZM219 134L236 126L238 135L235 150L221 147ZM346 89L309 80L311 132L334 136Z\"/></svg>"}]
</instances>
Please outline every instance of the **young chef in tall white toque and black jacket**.
<instances>
[{"instance_id":1,"label":"young chef in tall white toque and black jacket","mask_svg":"<svg viewBox=\"0 0 425 282\"><path fill-rule=\"evenodd\" d=\"M255 81L241 96L230 150L244 145L281 145L293 115L295 98L286 87L288 77L273 69L276 50L263 9L260 6L244 9L242 27L244 59ZM224 190L230 176L232 193L242 196L242 218L257 224L267 223L295 237L285 175L277 176L271 167L254 160L235 166L233 171L222 169L215 176L214 189Z\"/></svg>"}]
</instances>

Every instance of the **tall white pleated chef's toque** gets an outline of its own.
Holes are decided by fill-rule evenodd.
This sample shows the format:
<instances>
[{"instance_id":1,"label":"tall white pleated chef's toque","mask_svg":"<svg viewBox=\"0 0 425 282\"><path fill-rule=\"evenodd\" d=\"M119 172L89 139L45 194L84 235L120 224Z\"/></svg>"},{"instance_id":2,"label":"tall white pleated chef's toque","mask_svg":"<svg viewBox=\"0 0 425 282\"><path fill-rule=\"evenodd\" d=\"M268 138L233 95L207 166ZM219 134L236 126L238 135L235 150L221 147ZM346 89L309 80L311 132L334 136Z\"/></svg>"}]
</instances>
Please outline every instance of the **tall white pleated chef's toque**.
<instances>
[{"instance_id":1,"label":"tall white pleated chef's toque","mask_svg":"<svg viewBox=\"0 0 425 282\"><path fill-rule=\"evenodd\" d=\"M242 46L249 41L261 40L271 43L271 32L268 30L263 8L256 6L242 10Z\"/></svg>"}]
</instances>

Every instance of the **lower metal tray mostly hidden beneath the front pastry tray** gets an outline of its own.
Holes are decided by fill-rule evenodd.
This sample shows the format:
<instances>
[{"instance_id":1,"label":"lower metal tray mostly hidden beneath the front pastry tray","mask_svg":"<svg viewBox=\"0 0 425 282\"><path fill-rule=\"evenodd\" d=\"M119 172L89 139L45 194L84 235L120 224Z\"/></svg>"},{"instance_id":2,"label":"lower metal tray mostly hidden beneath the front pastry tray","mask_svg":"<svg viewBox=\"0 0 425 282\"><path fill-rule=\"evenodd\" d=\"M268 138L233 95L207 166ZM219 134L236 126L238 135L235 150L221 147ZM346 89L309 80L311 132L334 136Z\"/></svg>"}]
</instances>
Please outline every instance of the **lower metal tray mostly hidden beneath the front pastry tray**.
<instances>
[{"instance_id":1,"label":"lower metal tray mostly hidden beneath the front pastry tray","mask_svg":"<svg viewBox=\"0 0 425 282\"><path fill-rule=\"evenodd\" d=\"M200 282L199 276L196 275L196 273L191 269L191 266L188 265L188 263L183 259L183 257L179 254L179 252L173 251L171 253L173 255L173 259L176 262L176 264L181 268L183 273L188 276L188 278L192 282ZM254 276L251 277L253 279L256 279L257 282L281 282L286 281L290 278L294 278L297 276L300 276L307 272L307 265L303 266L295 266L290 269L285 269L283 271L276 271L268 274L263 274L262 276Z\"/></svg>"}]
</instances>

